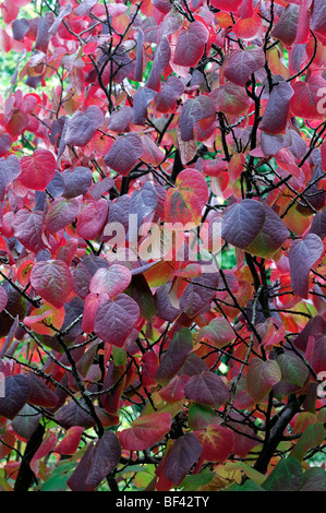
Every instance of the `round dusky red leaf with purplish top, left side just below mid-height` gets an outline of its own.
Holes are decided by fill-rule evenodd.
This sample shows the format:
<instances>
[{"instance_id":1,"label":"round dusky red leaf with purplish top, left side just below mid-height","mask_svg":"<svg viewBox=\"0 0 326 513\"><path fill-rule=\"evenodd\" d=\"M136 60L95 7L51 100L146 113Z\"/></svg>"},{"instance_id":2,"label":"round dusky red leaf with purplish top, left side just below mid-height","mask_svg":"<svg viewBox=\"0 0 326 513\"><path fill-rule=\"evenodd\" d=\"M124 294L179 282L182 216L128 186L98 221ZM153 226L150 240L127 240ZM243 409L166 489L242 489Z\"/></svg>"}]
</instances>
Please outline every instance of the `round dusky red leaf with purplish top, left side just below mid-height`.
<instances>
[{"instance_id":1,"label":"round dusky red leaf with purplish top, left side just below mid-height","mask_svg":"<svg viewBox=\"0 0 326 513\"><path fill-rule=\"evenodd\" d=\"M73 289L73 277L62 260L49 260L34 265L31 284L46 301L61 308Z\"/></svg>"}]
</instances>

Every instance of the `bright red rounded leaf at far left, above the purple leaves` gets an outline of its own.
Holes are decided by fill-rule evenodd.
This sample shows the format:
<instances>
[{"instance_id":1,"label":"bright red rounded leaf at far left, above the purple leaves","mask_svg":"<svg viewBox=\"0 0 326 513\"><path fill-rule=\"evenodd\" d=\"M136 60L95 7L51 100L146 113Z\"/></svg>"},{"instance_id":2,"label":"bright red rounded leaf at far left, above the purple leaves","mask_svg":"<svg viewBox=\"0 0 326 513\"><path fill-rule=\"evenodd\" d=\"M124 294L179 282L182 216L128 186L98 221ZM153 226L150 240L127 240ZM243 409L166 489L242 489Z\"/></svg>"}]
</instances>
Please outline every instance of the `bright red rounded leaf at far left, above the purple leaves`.
<instances>
[{"instance_id":1,"label":"bright red rounded leaf at far left, above the purple leaves","mask_svg":"<svg viewBox=\"0 0 326 513\"><path fill-rule=\"evenodd\" d=\"M36 150L32 157L21 158L20 181L27 189L45 191L56 175L57 162L48 150Z\"/></svg>"}]
</instances>

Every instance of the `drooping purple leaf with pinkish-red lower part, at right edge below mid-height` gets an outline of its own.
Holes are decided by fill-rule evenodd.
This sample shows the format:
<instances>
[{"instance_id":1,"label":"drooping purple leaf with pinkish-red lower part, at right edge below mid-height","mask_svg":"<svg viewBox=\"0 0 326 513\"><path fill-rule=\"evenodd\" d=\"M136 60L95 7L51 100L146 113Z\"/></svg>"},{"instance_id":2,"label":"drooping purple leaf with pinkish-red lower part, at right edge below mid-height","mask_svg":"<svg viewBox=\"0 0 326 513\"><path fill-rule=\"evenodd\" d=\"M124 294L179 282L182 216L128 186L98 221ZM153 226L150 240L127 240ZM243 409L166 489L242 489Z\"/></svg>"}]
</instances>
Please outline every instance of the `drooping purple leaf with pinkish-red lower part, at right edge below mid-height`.
<instances>
[{"instance_id":1,"label":"drooping purple leaf with pinkish-red lower part, at right edge below mid-height","mask_svg":"<svg viewBox=\"0 0 326 513\"><path fill-rule=\"evenodd\" d=\"M312 265L322 256L324 244L315 234L302 240L294 240L289 252L291 287L298 296L307 299L309 273Z\"/></svg>"}]
</instances>

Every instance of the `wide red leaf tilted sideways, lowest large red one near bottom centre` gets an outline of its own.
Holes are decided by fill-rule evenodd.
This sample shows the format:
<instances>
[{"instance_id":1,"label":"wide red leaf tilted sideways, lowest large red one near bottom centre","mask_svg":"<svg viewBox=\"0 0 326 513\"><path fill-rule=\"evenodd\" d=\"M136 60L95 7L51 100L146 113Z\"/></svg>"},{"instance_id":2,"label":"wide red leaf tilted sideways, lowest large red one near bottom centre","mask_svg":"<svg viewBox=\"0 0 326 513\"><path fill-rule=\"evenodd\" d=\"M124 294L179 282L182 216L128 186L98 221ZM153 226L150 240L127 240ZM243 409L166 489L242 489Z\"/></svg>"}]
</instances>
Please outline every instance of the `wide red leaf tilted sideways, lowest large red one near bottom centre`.
<instances>
[{"instance_id":1,"label":"wide red leaf tilted sideways, lowest large red one near bottom centre","mask_svg":"<svg viewBox=\"0 0 326 513\"><path fill-rule=\"evenodd\" d=\"M171 414L141 415L131 428L118 432L120 443L128 451L144 451L161 440L171 429Z\"/></svg>"}]
</instances>

